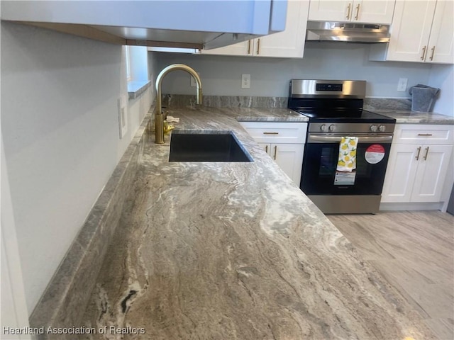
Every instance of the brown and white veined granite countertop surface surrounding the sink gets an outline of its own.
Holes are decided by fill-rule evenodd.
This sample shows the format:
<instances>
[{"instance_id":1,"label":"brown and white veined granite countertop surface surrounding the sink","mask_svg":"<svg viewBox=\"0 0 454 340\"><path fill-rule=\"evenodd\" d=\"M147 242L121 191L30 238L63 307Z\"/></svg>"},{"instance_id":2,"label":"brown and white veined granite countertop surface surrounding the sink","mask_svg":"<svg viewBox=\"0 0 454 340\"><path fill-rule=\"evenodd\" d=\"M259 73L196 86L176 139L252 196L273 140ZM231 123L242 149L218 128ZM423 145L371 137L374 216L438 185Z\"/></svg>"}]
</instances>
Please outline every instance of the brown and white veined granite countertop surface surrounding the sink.
<instances>
[{"instance_id":1,"label":"brown and white veined granite countertop surface surrounding the sink","mask_svg":"<svg viewBox=\"0 0 454 340\"><path fill-rule=\"evenodd\" d=\"M247 110L170 115L232 130L254 162L168 162L150 137L83 318L107 334L81 339L433 339L237 121L283 111Z\"/></svg>"}]
</instances>

